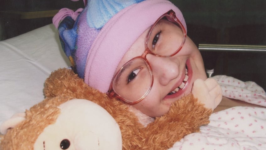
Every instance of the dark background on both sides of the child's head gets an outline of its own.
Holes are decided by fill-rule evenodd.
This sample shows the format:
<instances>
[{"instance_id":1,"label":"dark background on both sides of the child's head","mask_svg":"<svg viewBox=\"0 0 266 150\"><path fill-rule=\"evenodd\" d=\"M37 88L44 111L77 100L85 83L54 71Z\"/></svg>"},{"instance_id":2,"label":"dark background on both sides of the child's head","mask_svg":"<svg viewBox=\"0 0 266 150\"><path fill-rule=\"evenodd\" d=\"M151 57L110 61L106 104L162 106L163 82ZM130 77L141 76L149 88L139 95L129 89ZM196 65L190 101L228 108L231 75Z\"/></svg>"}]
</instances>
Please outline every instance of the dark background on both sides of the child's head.
<instances>
[{"instance_id":1,"label":"dark background on both sides of the child's head","mask_svg":"<svg viewBox=\"0 0 266 150\"><path fill-rule=\"evenodd\" d=\"M266 46L265 0L172 0L183 12L188 36L199 44ZM35 12L61 8L84 8L83 1L1 0L0 11ZM0 40L52 23L52 17L19 19L0 16ZM266 52L201 51L206 69L214 75L255 81L266 90Z\"/></svg>"}]
</instances>

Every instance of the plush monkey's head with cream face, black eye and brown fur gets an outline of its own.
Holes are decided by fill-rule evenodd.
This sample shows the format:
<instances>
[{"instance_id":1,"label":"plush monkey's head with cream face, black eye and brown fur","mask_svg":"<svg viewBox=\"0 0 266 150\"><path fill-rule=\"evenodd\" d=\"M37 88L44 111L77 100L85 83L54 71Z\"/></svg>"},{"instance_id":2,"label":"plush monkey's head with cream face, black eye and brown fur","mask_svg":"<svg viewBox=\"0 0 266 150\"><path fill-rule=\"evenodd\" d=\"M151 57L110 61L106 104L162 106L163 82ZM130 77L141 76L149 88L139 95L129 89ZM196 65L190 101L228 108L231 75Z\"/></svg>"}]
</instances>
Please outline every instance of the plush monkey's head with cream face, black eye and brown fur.
<instances>
[{"instance_id":1,"label":"plush monkey's head with cream face, black eye and brown fur","mask_svg":"<svg viewBox=\"0 0 266 150\"><path fill-rule=\"evenodd\" d=\"M50 101L58 101L58 99L58 97L55 97L50 99ZM52 118L53 115L56 116L53 124L46 126L46 119L42 119L42 122L35 124L37 130L34 130L35 128L30 126L28 122L34 125L34 122L42 118L44 114L26 112L24 119L21 114L15 115L1 125L1 132L6 133L6 131L10 130L4 136L4 138L10 139L2 140L0 149L5 150L5 148L8 148L8 150L11 150L11 147L13 147L13 150L122 149L122 136L119 125L98 104L85 99L72 99L59 106L48 106L47 104L44 107L46 109L54 107L59 110L59 114L53 113L46 116ZM40 106L39 108L42 109ZM16 128L12 128L13 126L16 126ZM38 128L44 129L38 133ZM24 132L17 131L19 129L23 129ZM23 132L24 135L13 135L14 132L17 132L17 134ZM17 139L16 136L20 137L20 139Z\"/></svg>"}]
</instances>

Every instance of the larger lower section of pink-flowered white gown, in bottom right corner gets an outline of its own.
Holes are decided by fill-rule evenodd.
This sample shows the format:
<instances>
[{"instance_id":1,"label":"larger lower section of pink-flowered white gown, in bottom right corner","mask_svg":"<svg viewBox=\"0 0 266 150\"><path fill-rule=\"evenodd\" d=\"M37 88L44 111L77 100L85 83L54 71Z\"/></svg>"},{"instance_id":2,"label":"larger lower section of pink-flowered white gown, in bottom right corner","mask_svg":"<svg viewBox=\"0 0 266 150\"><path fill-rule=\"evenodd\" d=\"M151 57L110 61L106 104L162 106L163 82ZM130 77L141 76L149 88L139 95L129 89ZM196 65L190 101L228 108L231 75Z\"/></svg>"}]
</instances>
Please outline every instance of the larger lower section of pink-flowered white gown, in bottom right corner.
<instances>
[{"instance_id":1,"label":"larger lower section of pink-flowered white gown, in bottom right corner","mask_svg":"<svg viewBox=\"0 0 266 150\"><path fill-rule=\"evenodd\" d=\"M200 132L185 136L169 150L265 150L266 108L233 107L210 116Z\"/></svg>"}]
</instances>

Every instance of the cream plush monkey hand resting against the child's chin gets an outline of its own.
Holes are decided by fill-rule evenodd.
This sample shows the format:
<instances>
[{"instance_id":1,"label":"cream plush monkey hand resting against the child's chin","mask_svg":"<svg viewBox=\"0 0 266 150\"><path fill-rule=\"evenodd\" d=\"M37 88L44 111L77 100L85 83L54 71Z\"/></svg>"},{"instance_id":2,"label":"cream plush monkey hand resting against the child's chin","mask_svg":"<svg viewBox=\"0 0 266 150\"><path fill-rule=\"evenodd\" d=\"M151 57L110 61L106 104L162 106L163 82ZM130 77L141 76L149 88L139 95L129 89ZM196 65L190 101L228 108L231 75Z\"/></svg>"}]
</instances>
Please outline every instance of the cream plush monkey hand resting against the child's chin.
<instances>
[{"instance_id":1,"label":"cream plush monkey hand resting against the child's chin","mask_svg":"<svg viewBox=\"0 0 266 150\"><path fill-rule=\"evenodd\" d=\"M222 100L222 89L215 79L203 81L197 79L193 83L192 94L198 102L205 104L205 108L214 110Z\"/></svg>"}]
</instances>

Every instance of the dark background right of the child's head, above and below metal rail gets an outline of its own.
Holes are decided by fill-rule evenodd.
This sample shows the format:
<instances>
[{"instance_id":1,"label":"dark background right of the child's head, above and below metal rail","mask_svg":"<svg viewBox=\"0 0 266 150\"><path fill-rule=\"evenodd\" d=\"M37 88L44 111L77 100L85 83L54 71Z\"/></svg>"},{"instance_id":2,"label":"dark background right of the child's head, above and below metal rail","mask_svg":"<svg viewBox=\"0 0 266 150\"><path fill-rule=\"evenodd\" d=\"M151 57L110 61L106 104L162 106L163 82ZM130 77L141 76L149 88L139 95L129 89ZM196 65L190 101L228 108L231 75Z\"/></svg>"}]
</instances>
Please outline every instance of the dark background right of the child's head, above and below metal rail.
<instances>
[{"instance_id":1,"label":"dark background right of the child's head, above and below metal rail","mask_svg":"<svg viewBox=\"0 0 266 150\"><path fill-rule=\"evenodd\" d=\"M265 0L198 0L173 3L182 11L188 36L198 44L266 46ZM213 75L255 81L266 90L266 52L201 51Z\"/></svg>"}]
</instances>

